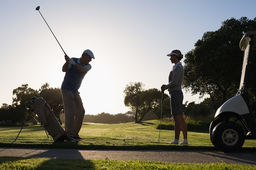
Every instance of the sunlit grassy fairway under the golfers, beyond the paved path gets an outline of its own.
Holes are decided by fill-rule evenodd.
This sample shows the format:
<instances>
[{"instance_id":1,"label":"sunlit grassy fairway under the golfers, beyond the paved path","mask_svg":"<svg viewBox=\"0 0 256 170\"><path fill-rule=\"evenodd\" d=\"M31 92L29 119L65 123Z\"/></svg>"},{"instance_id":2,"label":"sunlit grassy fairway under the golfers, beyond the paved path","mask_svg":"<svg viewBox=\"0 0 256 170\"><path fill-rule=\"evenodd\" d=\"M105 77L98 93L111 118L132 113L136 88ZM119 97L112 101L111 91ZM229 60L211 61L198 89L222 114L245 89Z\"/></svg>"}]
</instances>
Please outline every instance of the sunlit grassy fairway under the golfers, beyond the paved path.
<instances>
[{"instance_id":1,"label":"sunlit grassy fairway under the golfers, beyond the paved path","mask_svg":"<svg viewBox=\"0 0 256 170\"><path fill-rule=\"evenodd\" d=\"M189 146L170 145L174 138L173 130L155 129L157 120L144 121L141 124L83 124L79 135L84 138L78 144L54 142L44 129L39 126L0 127L0 146L29 148L79 148L79 149L135 149L135 150L216 150L211 144L207 129L201 132L188 132ZM180 142L182 141L182 132ZM125 141L123 140L125 139ZM13 142L13 143L12 143ZM247 140L245 149L255 149L256 141Z\"/></svg>"}]
</instances>

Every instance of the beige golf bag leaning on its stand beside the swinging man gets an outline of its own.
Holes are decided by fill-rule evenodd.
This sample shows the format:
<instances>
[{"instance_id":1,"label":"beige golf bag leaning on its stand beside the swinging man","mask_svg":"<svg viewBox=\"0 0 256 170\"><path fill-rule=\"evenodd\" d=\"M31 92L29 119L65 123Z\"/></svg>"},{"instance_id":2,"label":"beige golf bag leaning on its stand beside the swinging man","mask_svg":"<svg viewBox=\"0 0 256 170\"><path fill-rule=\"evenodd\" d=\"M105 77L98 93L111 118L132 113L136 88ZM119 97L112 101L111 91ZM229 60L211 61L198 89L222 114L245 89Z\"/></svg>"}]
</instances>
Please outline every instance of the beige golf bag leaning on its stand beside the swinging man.
<instances>
[{"instance_id":1,"label":"beige golf bag leaning on its stand beside the swinging man","mask_svg":"<svg viewBox=\"0 0 256 170\"><path fill-rule=\"evenodd\" d=\"M66 132L59 124L57 118L54 115L52 108L45 102L43 97L33 97L32 109L38 116L41 124L43 124L45 130L52 136L54 141L64 141L67 138Z\"/></svg>"}]
</instances>

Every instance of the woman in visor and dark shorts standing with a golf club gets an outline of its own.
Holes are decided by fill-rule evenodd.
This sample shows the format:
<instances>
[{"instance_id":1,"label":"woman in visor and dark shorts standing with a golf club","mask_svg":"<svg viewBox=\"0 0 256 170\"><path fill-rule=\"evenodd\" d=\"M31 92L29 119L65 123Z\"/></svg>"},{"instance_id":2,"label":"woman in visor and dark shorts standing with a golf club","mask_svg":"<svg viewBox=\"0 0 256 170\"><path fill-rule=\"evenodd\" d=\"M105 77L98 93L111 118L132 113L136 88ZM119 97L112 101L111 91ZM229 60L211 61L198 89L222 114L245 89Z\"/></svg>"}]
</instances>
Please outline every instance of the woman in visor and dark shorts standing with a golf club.
<instances>
[{"instance_id":1,"label":"woman in visor and dark shorts standing with a golf club","mask_svg":"<svg viewBox=\"0 0 256 170\"><path fill-rule=\"evenodd\" d=\"M183 58L183 55L179 50L173 50L167 56L169 56L171 62L175 64L169 74L169 84L164 84L161 87L162 92L168 89L170 94L171 115L173 115L175 131L175 139L171 142L171 144L179 144L180 130L182 130L183 141L181 145L188 145L187 126L183 117L182 108L183 93L181 85L184 78L184 68L180 60Z\"/></svg>"}]
</instances>

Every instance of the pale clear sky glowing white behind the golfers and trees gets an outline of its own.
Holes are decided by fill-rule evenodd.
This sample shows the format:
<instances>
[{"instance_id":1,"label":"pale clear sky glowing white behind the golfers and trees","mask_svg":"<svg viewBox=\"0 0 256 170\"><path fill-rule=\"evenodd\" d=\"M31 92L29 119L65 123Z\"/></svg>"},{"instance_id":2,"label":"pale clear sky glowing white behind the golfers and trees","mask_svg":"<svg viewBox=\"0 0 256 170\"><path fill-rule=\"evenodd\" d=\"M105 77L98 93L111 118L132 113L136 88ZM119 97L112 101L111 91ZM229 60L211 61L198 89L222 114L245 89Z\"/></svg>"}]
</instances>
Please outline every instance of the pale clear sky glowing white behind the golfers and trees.
<instances>
[{"instance_id":1,"label":"pale clear sky glowing white behind the golfers and trees","mask_svg":"<svg viewBox=\"0 0 256 170\"><path fill-rule=\"evenodd\" d=\"M61 87L64 53L37 6L67 55L94 53L79 89L90 115L126 113L126 84L160 90L168 83L173 64L166 54L191 51L227 19L256 17L255 0L1 0L1 106L22 84ZM184 91L186 101L202 99Z\"/></svg>"}]
</instances>

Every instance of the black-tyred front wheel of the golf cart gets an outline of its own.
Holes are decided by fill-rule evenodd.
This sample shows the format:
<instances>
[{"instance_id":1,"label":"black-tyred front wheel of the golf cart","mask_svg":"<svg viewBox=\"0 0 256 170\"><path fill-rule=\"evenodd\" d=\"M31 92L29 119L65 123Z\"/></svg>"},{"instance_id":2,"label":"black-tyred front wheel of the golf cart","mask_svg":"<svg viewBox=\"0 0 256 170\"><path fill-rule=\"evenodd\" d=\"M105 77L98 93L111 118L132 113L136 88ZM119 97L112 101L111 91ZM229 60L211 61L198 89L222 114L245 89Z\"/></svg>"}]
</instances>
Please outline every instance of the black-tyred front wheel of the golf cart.
<instances>
[{"instance_id":1,"label":"black-tyred front wheel of the golf cart","mask_svg":"<svg viewBox=\"0 0 256 170\"><path fill-rule=\"evenodd\" d=\"M235 152L242 148L245 135L242 128L231 121L220 122L213 128L212 144L223 152Z\"/></svg>"}]
</instances>

